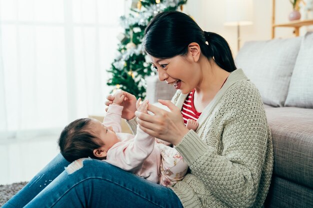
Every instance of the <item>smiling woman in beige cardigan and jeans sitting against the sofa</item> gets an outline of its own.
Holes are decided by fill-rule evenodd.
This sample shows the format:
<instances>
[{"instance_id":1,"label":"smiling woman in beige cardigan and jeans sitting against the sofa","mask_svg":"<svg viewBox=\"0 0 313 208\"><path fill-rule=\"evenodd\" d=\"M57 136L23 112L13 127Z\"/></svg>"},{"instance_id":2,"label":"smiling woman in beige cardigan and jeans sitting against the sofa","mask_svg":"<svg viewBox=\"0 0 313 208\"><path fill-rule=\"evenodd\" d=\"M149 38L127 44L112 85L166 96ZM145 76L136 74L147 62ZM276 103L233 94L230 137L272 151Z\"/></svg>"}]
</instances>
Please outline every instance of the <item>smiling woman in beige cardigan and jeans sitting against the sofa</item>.
<instances>
[{"instance_id":1,"label":"smiling woman in beige cardigan and jeans sitting against the sofa","mask_svg":"<svg viewBox=\"0 0 313 208\"><path fill-rule=\"evenodd\" d=\"M135 112L136 99L126 94L122 117L133 131L138 124L172 143L189 166L185 178L169 189L91 159L63 171L68 163L58 155L3 208L30 200L26 208L262 206L273 165L270 130L259 93L236 69L227 42L169 11L146 27L144 47L159 79L179 90L172 102L159 101L170 112L148 106L155 115ZM195 132L184 125L189 116L197 119Z\"/></svg>"}]
</instances>

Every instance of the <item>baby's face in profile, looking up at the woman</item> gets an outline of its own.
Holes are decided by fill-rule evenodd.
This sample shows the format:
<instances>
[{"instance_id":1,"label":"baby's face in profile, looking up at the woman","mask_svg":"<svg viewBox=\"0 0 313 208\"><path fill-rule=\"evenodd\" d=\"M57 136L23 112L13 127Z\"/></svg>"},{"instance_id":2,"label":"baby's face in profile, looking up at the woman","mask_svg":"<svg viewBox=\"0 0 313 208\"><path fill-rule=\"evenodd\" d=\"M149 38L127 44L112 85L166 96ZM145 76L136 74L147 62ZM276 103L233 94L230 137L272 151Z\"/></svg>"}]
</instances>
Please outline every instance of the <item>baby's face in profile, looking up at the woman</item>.
<instances>
[{"instance_id":1,"label":"baby's face in profile, looking up at the woman","mask_svg":"<svg viewBox=\"0 0 313 208\"><path fill-rule=\"evenodd\" d=\"M114 144L120 142L111 126L104 126L96 119L91 120L92 134L99 138L104 144L103 147L107 152Z\"/></svg>"}]
</instances>

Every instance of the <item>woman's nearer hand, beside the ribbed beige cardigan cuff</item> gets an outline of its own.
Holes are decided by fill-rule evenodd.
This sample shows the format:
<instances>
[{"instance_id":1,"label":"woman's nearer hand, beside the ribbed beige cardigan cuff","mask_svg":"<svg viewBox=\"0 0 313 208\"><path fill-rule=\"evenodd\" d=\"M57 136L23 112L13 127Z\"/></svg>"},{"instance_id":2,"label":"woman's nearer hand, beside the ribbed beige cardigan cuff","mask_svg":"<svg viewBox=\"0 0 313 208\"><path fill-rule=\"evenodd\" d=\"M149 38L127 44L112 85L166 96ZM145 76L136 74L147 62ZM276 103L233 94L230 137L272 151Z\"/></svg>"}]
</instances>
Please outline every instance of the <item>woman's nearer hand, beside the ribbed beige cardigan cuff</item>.
<instances>
[{"instance_id":1,"label":"woman's nearer hand, beside the ribbed beige cardigan cuff","mask_svg":"<svg viewBox=\"0 0 313 208\"><path fill-rule=\"evenodd\" d=\"M169 108L170 112L148 104L148 111L154 115L136 111L137 123L142 131L150 136L177 145L188 129L183 124L180 109L168 100L158 100Z\"/></svg>"}]
</instances>

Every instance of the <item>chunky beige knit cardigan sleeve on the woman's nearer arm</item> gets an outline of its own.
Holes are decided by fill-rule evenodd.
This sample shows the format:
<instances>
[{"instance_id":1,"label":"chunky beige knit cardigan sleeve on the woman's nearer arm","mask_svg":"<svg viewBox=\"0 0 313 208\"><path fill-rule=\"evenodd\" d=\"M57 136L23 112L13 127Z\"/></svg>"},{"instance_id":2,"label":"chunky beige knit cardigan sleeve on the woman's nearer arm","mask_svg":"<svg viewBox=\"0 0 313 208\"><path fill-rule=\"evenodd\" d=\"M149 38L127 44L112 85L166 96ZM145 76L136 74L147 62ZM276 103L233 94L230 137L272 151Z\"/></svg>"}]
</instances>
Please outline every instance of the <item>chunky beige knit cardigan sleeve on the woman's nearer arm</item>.
<instances>
[{"instance_id":1,"label":"chunky beige knit cardigan sleeve on the woman's nearer arm","mask_svg":"<svg viewBox=\"0 0 313 208\"><path fill-rule=\"evenodd\" d=\"M250 207L257 195L269 131L254 85L244 82L235 91L226 92L214 117L218 123L212 125L222 129L215 138L222 143L221 154L193 131L175 148L191 174L216 198L230 207Z\"/></svg>"}]
</instances>

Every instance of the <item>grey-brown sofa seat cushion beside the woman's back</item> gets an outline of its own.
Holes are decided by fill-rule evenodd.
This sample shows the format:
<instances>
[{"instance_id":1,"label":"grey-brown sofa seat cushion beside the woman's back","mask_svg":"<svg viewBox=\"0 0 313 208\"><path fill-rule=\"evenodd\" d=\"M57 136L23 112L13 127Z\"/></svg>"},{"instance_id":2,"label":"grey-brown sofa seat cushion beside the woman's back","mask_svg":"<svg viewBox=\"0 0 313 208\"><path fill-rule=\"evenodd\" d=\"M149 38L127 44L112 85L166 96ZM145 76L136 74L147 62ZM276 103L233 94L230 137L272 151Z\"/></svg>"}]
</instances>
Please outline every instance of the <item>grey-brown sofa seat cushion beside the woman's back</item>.
<instances>
[{"instance_id":1,"label":"grey-brown sofa seat cushion beside the woman's back","mask_svg":"<svg viewBox=\"0 0 313 208\"><path fill-rule=\"evenodd\" d=\"M313 188L313 109L265 108L272 133L274 174Z\"/></svg>"}]
</instances>

